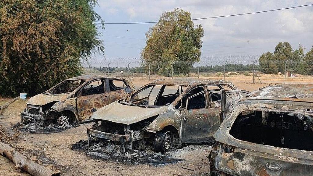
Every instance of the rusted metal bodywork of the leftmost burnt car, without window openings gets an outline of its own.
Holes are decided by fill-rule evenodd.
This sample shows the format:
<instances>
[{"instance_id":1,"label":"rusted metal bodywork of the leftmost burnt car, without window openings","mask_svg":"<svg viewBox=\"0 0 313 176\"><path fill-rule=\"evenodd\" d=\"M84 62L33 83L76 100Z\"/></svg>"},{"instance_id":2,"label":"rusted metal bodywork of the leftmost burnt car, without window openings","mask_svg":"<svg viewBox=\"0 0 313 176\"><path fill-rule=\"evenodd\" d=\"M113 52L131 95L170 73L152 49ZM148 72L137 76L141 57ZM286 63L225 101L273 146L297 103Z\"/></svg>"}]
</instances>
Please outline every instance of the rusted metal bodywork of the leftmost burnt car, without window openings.
<instances>
[{"instance_id":1,"label":"rusted metal bodywork of the leftmost burnt car, without window openings","mask_svg":"<svg viewBox=\"0 0 313 176\"><path fill-rule=\"evenodd\" d=\"M127 84L127 86L126 88L121 90L110 91L107 79L122 80L124 83ZM83 75L70 78L68 80L83 81L80 81L80 84L77 84L78 87L76 88L75 86L76 89L74 91L71 90L72 92L55 95L51 95L52 93L49 92L67 81L65 80L55 85L48 91L45 91L42 94L30 98L26 102L27 108L23 112L21 112L22 123L24 121L27 121L27 119L34 122L55 119L58 118L58 116L62 115L62 112L65 112L66 114L68 112L72 112L76 118L76 122L80 123L89 120L92 113L99 108L111 103L112 101L121 99L122 97L131 93L131 91L135 88L129 80L110 76ZM96 80L106 80L104 81L106 90L105 93L93 94L90 96L78 95L78 92L83 87ZM34 117L36 117L36 119ZM49 123L51 122L54 121L49 121ZM43 122L40 122L40 124L43 125Z\"/></svg>"}]
</instances>

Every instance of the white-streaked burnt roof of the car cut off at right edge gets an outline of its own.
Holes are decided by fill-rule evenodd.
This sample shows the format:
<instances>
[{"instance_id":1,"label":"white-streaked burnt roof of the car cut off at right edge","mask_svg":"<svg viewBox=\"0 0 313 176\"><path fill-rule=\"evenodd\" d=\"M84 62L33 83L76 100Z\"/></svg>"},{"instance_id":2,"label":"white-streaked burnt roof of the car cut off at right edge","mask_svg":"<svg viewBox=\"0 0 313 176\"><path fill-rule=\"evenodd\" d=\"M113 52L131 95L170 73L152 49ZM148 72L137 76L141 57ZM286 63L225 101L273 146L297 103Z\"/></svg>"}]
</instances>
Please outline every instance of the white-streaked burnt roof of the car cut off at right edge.
<instances>
[{"instance_id":1,"label":"white-streaked burnt roof of the car cut off at right edge","mask_svg":"<svg viewBox=\"0 0 313 176\"><path fill-rule=\"evenodd\" d=\"M247 100L285 100L313 103L313 84L269 85L249 93L246 97Z\"/></svg>"}]
</instances>

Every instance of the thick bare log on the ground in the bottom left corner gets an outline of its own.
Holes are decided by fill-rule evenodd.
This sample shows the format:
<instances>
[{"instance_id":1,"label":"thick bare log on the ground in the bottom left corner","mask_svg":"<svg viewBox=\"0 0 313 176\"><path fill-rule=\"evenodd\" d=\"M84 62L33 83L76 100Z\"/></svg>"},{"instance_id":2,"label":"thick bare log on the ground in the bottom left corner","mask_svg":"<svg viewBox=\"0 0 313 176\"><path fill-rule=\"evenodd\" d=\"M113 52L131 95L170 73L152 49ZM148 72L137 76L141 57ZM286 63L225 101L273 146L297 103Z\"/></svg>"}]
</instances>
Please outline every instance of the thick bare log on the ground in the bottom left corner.
<instances>
[{"instance_id":1,"label":"thick bare log on the ground in the bottom left corner","mask_svg":"<svg viewBox=\"0 0 313 176\"><path fill-rule=\"evenodd\" d=\"M22 155L12 148L9 144L0 142L0 154L9 158L16 168L24 170L33 176L59 176L60 173L35 163L31 159Z\"/></svg>"}]
</instances>

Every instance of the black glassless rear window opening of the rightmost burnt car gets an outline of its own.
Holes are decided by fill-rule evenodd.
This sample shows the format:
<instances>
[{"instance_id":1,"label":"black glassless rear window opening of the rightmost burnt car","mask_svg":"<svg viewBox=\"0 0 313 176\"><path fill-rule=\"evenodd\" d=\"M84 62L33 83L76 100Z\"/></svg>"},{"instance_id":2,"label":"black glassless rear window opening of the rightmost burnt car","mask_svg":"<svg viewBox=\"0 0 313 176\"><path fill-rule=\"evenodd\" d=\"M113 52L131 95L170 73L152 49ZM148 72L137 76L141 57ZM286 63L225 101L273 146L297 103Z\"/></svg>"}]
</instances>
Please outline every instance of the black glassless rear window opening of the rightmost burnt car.
<instances>
[{"instance_id":1,"label":"black glassless rear window opening of the rightmost burnt car","mask_svg":"<svg viewBox=\"0 0 313 176\"><path fill-rule=\"evenodd\" d=\"M274 147L313 150L313 116L276 111L244 111L230 134L240 140Z\"/></svg>"}]
</instances>

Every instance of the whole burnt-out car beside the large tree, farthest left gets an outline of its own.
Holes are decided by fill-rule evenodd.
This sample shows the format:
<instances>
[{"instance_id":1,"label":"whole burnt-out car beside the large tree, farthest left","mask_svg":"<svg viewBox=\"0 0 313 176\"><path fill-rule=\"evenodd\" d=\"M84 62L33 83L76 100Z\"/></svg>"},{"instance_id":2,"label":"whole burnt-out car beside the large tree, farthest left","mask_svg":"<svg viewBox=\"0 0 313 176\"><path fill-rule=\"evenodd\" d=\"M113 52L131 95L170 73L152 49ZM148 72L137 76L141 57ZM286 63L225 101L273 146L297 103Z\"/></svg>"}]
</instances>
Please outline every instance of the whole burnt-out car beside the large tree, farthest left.
<instances>
[{"instance_id":1,"label":"whole burnt-out car beside the large tree, farthest left","mask_svg":"<svg viewBox=\"0 0 313 176\"><path fill-rule=\"evenodd\" d=\"M96 110L133 90L131 81L123 78L97 75L70 78L30 98L21 112L21 124L36 127L88 122Z\"/></svg>"}]
</instances>

